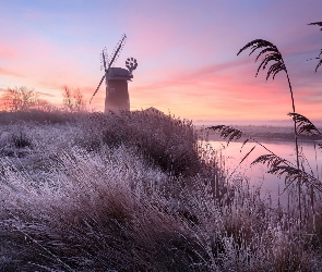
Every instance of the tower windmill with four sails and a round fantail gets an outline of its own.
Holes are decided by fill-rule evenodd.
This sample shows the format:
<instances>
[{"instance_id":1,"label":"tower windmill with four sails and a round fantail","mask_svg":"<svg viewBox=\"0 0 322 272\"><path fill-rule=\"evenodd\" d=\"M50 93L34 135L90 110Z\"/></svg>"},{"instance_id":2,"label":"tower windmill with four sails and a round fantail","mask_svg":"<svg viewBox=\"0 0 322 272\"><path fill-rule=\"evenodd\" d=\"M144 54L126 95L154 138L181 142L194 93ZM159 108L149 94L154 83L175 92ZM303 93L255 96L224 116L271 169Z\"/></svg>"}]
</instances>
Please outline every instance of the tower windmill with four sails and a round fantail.
<instances>
[{"instance_id":1,"label":"tower windmill with four sails and a round fantail","mask_svg":"<svg viewBox=\"0 0 322 272\"><path fill-rule=\"evenodd\" d=\"M120 51L122 50L127 36L122 35L121 39L117 44L111 58L107 58L106 48L102 51L102 63L100 70L105 71L98 87L94 91L92 99L98 91L104 78L106 83L106 97L105 97L105 113L109 111L120 111L120 110L130 110L130 98L128 90L128 82L133 78L132 72L138 67L138 62L133 58L129 58L126 61L126 69L121 67L112 67L115 62L117 61Z\"/></svg>"}]
</instances>

